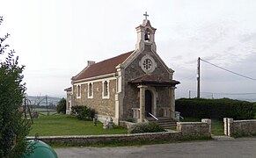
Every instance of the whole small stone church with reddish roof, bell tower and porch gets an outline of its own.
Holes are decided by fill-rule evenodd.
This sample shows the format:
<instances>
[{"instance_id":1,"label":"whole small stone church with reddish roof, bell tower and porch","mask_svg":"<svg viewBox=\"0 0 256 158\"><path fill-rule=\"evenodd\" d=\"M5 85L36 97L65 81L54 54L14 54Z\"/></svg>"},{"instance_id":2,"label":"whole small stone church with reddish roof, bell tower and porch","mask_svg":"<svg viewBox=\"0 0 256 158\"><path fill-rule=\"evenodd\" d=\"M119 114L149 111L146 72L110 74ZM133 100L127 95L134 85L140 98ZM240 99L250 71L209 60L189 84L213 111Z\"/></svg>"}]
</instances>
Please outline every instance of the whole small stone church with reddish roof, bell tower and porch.
<instances>
[{"instance_id":1,"label":"whole small stone church with reddish roof, bell tower and porch","mask_svg":"<svg viewBox=\"0 0 256 158\"><path fill-rule=\"evenodd\" d=\"M136 27L135 50L88 66L71 78L67 113L71 106L95 109L100 121L113 118L143 122L148 117L175 118L174 71L157 54L156 29L147 17Z\"/></svg>"}]
</instances>

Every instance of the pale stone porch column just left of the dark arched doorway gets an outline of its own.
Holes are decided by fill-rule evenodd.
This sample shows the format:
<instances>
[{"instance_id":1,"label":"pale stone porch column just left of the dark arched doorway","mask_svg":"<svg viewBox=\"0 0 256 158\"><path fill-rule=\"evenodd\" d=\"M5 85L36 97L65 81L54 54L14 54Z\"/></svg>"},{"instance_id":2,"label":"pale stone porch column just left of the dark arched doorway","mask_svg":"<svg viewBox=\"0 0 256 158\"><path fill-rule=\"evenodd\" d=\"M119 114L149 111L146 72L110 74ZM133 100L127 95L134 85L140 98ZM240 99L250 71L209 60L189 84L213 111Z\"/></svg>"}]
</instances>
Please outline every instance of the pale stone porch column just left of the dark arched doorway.
<instances>
[{"instance_id":1,"label":"pale stone porch column just left of the dark arched doorway","mask_svg":"<svg viewBox=\"0 0 256 158\"><path fill-rule=\"evenodd\" d=\"M139 122L143 122L145 119L145 89L147 86L139 85L138 88L140 89L140 118Z\"/></svg>"}]
</instances>

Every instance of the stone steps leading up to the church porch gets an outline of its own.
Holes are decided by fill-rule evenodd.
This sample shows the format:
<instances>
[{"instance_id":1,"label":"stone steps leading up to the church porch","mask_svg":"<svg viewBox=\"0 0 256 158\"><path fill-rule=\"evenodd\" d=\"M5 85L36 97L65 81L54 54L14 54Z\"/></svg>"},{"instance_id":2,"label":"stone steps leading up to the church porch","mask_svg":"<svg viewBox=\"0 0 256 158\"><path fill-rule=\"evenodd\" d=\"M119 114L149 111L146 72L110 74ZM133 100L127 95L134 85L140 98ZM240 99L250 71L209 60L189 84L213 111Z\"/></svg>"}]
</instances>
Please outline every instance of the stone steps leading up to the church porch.
<instances>
[{"instance_id":1,"label":"stone steps leading up to the church porch","mask_svg":"<svg viewBox=\"0 0 256 158\"><path fill-rule=\"evenodd\" d=\"M158 120L154 118L146 118L150 122L156 122L159 126L162 126L165 129L170 129L172 127L176 127L176 120L172 120L171 118L158 118Z\"/></svg>"}]
</instances>

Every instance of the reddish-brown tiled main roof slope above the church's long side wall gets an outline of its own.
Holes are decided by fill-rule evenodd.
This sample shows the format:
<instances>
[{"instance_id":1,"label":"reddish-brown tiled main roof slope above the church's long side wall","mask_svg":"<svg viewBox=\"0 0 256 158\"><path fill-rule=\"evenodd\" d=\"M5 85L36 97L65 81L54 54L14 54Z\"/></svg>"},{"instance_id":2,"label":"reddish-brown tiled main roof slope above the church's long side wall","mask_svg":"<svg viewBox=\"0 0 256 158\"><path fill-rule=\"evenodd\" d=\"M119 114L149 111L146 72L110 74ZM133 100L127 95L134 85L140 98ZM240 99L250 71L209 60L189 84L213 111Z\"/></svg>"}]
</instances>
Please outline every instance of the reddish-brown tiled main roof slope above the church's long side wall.
<instances>
[{"instance_id":1,"label":"reddish-brown tiled main roof slope above the church's long side wall","mask_svg":"<svg viewBox=\"0 0 256 158\"><path fill-rule=\"evenodd\" d=\"M99 75L107 75L116 72L116 66L125 61L130 54L134 51L128 52L126 54L121 54L113 58L107 59L105 61L100 61L98 63L92 64L88 68L84 68L82 72L72 78L73 81L82 80L85 78L91 78Z\"/></svg>"}]
</instances>

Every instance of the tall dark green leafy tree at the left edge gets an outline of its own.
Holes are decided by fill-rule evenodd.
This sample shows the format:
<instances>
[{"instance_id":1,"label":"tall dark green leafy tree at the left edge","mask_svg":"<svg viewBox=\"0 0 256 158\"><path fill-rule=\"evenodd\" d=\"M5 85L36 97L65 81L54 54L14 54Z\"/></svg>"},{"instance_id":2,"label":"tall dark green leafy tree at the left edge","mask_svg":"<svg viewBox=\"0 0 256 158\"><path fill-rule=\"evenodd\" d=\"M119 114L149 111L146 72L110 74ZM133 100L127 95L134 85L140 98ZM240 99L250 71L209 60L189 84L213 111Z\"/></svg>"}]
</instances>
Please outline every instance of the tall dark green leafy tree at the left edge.
<instances>
[{"instance_id":1,"label":"tall dark green leafy tree at the left edge","mask_svg":"<svg viewBox=\"0 0 256 158\"><path fill-rule=\"evenodd\" d=\"M3 21L0 17L0 25ZM0 157L22 157L28 152L26 135L30 129L20 110L26 91L22 83L25 67L18 65L15 51L5 44L9 37L9 33L0 34Z\"/></svg>"}]
</instances>

